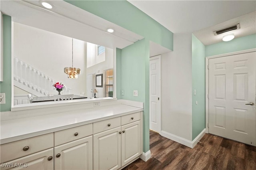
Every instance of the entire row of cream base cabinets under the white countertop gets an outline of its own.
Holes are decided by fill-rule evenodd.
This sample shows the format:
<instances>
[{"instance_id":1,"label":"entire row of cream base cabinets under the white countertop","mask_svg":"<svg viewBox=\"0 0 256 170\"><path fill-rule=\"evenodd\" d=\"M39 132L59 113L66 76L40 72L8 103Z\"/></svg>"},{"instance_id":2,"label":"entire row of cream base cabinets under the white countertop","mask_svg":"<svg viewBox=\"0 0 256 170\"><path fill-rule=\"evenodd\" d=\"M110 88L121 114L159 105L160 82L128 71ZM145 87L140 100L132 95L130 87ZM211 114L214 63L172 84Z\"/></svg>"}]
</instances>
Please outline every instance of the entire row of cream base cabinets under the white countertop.
<instances>
[{"instance_id":1,"label":"entire row of cream base cabinets under the white countertop","mask_svg":"<svg viewBox=\"0 0 256 170\"><path fill-rule=\"evenodd\" d=\"M116 170L142 154L142 112L1 144L1 170Z\"/></svg>"}]
</instances>

